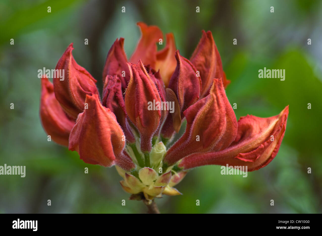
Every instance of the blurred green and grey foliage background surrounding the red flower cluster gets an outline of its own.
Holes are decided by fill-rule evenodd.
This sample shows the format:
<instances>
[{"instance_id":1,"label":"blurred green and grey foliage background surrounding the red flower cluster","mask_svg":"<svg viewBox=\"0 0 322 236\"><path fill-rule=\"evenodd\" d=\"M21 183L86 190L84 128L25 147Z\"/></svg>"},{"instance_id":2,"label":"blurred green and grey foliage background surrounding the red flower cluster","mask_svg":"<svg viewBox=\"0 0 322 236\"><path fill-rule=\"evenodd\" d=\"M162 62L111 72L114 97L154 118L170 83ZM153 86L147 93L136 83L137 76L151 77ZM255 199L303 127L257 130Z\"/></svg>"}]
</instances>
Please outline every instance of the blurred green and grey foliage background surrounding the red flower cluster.
<instances>
[{"instance_id":1,"label":"blurred green and grey foliage background surrounding the red flower cluster","mask_svg":"<svg viewBox=\"0 0 322 236\"><path fill-rule=\"evenodd\" d=\"M247 178L221 175L220 166L195 168L177 185L183 195L156 200L161 213L322 213L322 1L301 0L2 0L0 165L25 165L26 177L0 176L0 212L146 212L142 202L127 200L114 167L85 164L76 152L47 141L39 118L37 77L38 69L53 69L74 42L75 60L101 90L109 47L124 37L131 55L140 37L138 21L173 32L186 58L201 30L211 30L231 80L226 93L231 104L237 103L237 119L273 116L289 105L284 140L268 166ZM89 45L84 45L85 38ZM259 79L258 70L264 67L285 69L285 81ZM85 167L89 174L84 174Z\"/></svg>"}]
</instances>

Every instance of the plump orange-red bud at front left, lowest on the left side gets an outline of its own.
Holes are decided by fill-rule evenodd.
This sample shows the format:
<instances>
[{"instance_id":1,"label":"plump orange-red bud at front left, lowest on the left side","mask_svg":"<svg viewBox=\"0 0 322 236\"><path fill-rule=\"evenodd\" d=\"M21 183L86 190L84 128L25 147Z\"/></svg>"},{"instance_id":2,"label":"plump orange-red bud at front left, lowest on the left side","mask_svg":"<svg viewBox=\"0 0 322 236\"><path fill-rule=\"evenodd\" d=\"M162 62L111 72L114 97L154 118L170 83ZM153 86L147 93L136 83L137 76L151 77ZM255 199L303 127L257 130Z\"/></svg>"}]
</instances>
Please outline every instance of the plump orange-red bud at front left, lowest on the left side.
<instances>
[{"instance_id":1,"label":"plump orange-red bud at front left, lowest on the left side","mask_svg":"<svg viewBox=\"0 0 322 236\"><path fill-rule=\"evenodd\" d=\"M125 170L135 168L123 152L124 133L113 112L101 105L98 95L86 96L88 109L79 115L69 137L69 150L77 151L89 164L119 165Z\"/></svg>"}]
</instances>

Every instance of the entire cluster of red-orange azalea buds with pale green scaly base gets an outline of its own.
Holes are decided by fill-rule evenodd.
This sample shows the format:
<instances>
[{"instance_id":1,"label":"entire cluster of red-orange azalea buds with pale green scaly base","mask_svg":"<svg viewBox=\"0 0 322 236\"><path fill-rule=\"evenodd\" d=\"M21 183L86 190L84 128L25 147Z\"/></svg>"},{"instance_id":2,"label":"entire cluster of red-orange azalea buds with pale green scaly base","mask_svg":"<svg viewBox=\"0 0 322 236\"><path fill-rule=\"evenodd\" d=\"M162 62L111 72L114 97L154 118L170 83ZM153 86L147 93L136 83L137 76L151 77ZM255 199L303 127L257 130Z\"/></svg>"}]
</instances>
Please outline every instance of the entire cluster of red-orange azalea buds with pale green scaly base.
<instances>
[{"instance_id":1,"label":"entire cluster of red-orange azalea buds with pale green scaly base","mask_svg":"<svg viewBox=\"0 0 322 236\"><path fill-rule=\"evenodd\" d=\"M210 31L202 31L188 60L172 33L157 51L161 30L137 25L142 36L129 60L123 38L108 52L102 97L97 80L74 60L72 43L55 68L65 70L65 79L42 78L40 117L52 140L77 151L86 163L115 165L130 199L147 205L162 194L181 194L174 186L197 166L254 171L268 165L284 137L288 106L273 117L247 115L237 121ZM163 109L148 109L152 101L163 102ZM169 146L184 120L185 133Z\"/></svg>"}]
</instances>

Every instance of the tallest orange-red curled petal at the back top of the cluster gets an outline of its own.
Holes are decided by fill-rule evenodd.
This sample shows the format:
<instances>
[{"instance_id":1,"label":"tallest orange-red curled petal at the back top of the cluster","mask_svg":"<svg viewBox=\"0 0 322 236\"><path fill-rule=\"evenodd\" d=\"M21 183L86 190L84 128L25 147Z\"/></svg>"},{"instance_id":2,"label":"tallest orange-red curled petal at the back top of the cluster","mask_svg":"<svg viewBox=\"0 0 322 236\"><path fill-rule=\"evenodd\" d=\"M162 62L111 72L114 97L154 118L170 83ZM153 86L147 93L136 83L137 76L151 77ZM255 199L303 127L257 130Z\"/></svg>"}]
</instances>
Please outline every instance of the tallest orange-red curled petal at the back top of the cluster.
<instances>
[{"instance_id":1,"label":"tallest orange-red curled petal at the back top of the cluster","mask_svg":"<svg viewBox=\"0 0 322 236\"><path fill-rule=\"evenodd\" d=\"M131 56L130 62L137 63L141 60L144 64L149 64L152 68L155 68L156 42L159 42L159 39L163 39L162 31L155 25L147 26L143 22L138 22L137 25L141 29L142 36Z\"/></svg>"}]
</instances>

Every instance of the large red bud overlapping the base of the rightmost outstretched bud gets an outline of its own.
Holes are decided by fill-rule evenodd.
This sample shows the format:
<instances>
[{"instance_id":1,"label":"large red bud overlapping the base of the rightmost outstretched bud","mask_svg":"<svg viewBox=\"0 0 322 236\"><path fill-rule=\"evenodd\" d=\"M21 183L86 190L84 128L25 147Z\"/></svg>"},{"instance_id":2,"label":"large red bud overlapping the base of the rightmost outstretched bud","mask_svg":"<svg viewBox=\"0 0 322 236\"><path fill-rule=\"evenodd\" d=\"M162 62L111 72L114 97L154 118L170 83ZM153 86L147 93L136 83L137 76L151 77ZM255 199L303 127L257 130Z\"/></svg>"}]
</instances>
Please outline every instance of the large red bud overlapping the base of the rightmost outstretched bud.
<instances>
[{"instance_id":1,"label":"large red bud overlapping the base of the rightmost outstretched bud","mask_svg":"<svg viewBox=\"0 0 322 236\"><path fill-rule=\"evenodd\" d=\"M169 166L194 153L227 147L236 137L236 116L220 79L214 79L209 95L190 106L184 114L187 119L185 133L164 158Z\"/></svg>"}]
</instances>

